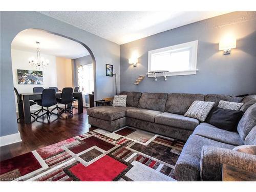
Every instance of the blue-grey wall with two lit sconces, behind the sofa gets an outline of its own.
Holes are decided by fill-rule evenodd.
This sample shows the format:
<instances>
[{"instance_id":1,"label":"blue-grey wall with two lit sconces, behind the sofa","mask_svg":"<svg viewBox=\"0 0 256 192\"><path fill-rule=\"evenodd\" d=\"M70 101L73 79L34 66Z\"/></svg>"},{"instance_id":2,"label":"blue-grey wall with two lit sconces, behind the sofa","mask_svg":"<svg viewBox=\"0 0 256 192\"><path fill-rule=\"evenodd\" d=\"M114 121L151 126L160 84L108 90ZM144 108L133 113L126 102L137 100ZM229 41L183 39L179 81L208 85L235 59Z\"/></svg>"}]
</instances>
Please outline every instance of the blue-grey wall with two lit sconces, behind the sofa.
<instances>
[{"instance_id":1,"label":"blue-grey wall with two lit sconces, behind the sofa","mask_svg":"<svg viewBox=\"0 0 256 192\"><path fill-rule=\"evenodd\" d=\"M256 93L256 12L233 12L158 33L120 46L121 91L166 93L217 93L240 95ZM237 49L230 55L219 51L219 41L226 33L237 37ZM198 40L196 75L145 76L148 51ZM128 64L133 52L139 54L137 67Z\"/></svg>"}]
</instances>

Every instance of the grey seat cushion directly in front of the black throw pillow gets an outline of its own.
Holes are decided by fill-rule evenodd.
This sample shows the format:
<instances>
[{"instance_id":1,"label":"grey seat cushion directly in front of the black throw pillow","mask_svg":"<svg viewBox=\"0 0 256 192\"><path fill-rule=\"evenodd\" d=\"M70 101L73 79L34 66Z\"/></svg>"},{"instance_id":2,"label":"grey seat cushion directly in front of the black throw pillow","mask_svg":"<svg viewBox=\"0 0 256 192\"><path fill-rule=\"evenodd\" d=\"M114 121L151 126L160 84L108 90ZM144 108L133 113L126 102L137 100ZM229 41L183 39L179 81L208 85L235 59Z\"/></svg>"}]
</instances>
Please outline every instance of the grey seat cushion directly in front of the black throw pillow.
<instances>
[{"instance_id":1,"label":"grey seat cushion directly in front of the black throw pillow","mask_svg":"<svg viewBox=\"0 0 256 192\"><path fill-rule=\"evenodd\" d=\"M244 144L237 132L230 132L212 126L205 126L200 124L196 127L193 134L236 146Z\"/></svg>"}]
</instances>

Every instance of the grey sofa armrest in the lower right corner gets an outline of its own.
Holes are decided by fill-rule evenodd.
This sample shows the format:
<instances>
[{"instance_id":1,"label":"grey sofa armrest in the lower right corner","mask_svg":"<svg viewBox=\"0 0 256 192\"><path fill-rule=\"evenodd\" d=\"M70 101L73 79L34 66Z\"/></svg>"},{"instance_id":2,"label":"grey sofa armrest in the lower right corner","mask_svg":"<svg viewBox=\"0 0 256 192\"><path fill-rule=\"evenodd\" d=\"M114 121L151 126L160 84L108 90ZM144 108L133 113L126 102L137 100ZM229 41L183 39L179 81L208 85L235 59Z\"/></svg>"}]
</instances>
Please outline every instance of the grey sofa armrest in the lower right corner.
<instances>
[{"instance_id":1,"label":"grey sofa armrest in the lower right corner","mask_svg":"<svg viewBox=\"0 0 256 192\"><path fill-rule=\"evenodd\" d=\"M201 179L203 181L221 181L223 163L256 173L255 155L226 148L203 146L200 160Z\"/></svg>"}]
</instances>

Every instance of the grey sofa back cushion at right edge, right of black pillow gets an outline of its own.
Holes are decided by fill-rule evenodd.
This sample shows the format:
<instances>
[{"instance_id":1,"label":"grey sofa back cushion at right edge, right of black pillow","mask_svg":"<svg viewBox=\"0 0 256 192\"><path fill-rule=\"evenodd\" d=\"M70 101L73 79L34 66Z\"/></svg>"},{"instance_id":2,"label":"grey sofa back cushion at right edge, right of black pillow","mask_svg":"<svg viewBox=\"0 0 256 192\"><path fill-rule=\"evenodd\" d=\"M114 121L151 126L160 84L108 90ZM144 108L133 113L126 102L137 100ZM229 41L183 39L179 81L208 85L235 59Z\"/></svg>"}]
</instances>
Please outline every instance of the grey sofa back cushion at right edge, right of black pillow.
<instances>
[{"instance_id":1,"label":"grey sofa back cushion at right edge, right of black pillow","mask_svg":"<svg viewBox=\"0 0 256 192\"><path fill-rule=\"evenodd\" d=\"M243 117L238 123L238 133L241 139L244 141L245 137L256 125L256 103L251 105L244 113Z\"/></svg>"}]
</instances>

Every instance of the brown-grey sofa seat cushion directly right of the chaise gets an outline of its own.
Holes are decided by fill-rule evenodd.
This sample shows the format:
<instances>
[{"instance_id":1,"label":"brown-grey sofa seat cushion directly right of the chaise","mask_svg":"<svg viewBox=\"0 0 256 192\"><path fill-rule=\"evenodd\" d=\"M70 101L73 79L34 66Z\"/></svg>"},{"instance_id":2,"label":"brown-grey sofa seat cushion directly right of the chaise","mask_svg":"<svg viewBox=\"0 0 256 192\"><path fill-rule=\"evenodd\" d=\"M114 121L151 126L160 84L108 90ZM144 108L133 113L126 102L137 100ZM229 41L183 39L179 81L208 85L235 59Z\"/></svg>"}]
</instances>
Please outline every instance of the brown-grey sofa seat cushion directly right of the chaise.
<instances>
[{"instance_id":1,"label":"brown-grey sofa seat cushion directly right of the chaise","mask_svg":"<svg viewBox=\"0 0 256 192\"><path fill-rule=\"evenodd\" d=\"M160 112L160 111L134 108L134 109L127 110L126 111L126 116L154 123L155 122L155 116L159 115L161 113L162 112Z\"/></svg>"}]
</instances>

